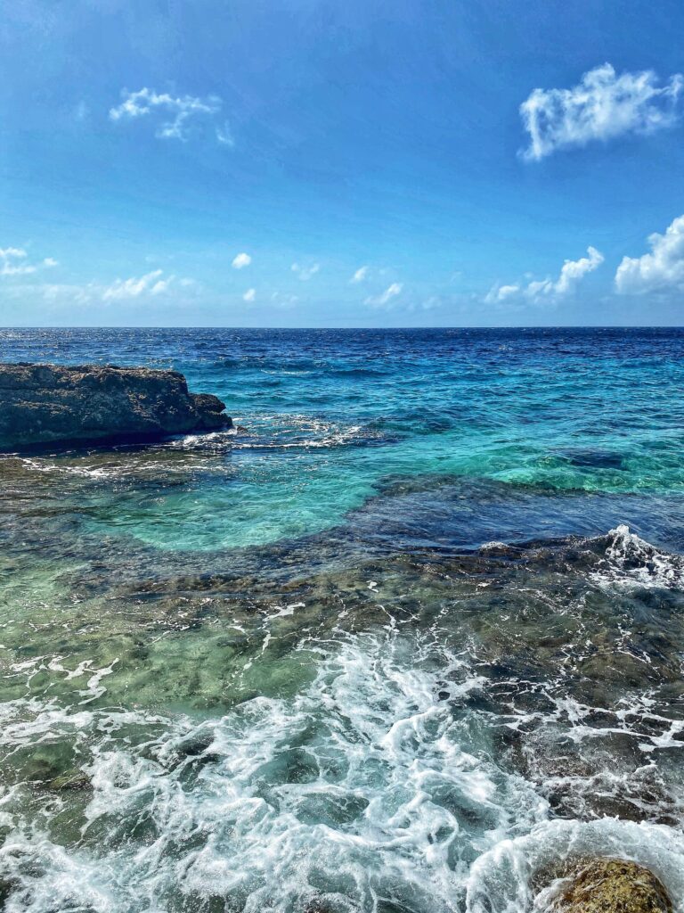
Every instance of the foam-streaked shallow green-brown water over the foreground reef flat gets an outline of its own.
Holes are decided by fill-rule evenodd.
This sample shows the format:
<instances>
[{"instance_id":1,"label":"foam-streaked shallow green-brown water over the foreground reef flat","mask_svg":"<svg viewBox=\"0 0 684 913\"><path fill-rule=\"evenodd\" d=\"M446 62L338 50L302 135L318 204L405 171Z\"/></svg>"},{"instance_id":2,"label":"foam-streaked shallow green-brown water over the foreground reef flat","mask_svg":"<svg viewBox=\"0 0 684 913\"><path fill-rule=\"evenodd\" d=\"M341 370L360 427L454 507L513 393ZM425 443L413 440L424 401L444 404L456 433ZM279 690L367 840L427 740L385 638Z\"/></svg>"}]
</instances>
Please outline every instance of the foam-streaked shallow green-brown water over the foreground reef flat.
<instances>
[{"instance_id":1,"label":"foam-streaked shallow green-brown water over the foreground reef flat","mask_svg":"<svg viewBox=\"0 0 684 913\"><path fill-rule=\"evenodd\" d=\"M442 881L444 908L461 908L472 864L504 834L606 816L679 833L677 556L615 530L306 576L299 561L286 571L282 550L257 558L275 560L276 579L226 570L94 585L78 563L47 562L28 580L5 564L16 586L2 629L12 833L38 827L51 854L63 847L69 866L77 854L86 879L99 842L118 834L108 858L126 866L127 904L150 840L168 861L143 896L180 891L181 903L207 855L213 871L238 852L237 829L245 908L276 890L279 903L362 903L357 891L389 879L411 895L394 907L409 909ZM242 810L224 821L226 790ZM659 832L638 833L658 855ZM323 853L303 866L310 841ZM259 846L292 879L284 894ZM55 889L54 860L37 877L30 841L13 852L25 897ZM216 890L235 879L223 871Z\"/></svg>"}]
</instances>

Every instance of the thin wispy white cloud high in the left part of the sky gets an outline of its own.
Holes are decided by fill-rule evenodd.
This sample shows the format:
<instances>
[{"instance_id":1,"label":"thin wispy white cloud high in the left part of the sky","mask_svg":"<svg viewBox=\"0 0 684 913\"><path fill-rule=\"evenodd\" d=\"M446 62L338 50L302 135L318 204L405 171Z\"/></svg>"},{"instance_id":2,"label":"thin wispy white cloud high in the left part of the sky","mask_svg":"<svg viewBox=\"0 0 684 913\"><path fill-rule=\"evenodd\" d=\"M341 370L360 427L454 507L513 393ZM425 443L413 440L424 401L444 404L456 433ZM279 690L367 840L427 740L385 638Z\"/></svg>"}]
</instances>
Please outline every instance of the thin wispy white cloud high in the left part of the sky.
<instances>
[{"instance_id":1,"label":"thin wispy white cloud high in the left part of the sky","mask_svg":"<svg viewBox=\"0 0 684 913\"><path fill-rule=\"evenodd\" d=\"M123 101L117 108L109 110L109 120L133 120L153 114L166 112L170 118L161 120L156 136L164 140L181 140L185 142L189 136L190 121L192 119L209 118L221 110L222 100L215 95L206 98L182 95L174 98L168 92L157 92L154 89L139 89L130 92L128 89L121 91ZM223 145L233 145L233 138L228 129L227 122L215 128L216 139Z\"/></svg>"}]
</instances>

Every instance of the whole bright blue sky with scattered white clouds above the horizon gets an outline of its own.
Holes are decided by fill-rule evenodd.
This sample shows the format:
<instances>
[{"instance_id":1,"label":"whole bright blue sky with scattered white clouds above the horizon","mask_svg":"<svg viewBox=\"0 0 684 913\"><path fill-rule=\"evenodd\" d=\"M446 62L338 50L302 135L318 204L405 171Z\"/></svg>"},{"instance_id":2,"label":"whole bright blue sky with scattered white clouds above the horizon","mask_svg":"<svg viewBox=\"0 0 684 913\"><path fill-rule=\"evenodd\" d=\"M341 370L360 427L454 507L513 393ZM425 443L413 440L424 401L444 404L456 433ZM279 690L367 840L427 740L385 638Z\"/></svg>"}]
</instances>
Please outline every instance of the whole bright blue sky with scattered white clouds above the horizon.
<instances>
[{"instance_id":1,"label":"whole bright blue sky with scattered white clouds above the horizon","mask_svg":"<svg viewBox=\"0 0 684 913\"><path fill-rule=\"evenodd\" d=\"M684 324L680 0L6 0L0 324Z\"/></svg>"}]
</instances>

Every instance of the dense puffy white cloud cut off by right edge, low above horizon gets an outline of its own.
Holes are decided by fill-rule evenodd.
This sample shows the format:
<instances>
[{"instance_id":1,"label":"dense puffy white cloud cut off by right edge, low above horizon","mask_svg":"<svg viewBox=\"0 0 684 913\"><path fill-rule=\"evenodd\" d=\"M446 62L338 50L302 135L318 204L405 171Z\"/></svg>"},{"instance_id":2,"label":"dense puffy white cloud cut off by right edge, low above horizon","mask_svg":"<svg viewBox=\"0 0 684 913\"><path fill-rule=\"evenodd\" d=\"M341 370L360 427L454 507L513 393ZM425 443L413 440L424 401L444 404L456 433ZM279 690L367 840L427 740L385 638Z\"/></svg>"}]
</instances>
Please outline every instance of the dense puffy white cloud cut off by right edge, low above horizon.
<instances>
[{"instance_id":1,"label":"dense puffy white cloud cut off by right edge, low above horizon","mask_svg":"<svg viewBox=\"0 0 684 913\"><path fill-rule=\"evenodd\" d=\"M648 237L650 254L623 257L615 276L622 295L684 289L684 215L676 218L664 235Z\"/></svg>"}]
</instances>

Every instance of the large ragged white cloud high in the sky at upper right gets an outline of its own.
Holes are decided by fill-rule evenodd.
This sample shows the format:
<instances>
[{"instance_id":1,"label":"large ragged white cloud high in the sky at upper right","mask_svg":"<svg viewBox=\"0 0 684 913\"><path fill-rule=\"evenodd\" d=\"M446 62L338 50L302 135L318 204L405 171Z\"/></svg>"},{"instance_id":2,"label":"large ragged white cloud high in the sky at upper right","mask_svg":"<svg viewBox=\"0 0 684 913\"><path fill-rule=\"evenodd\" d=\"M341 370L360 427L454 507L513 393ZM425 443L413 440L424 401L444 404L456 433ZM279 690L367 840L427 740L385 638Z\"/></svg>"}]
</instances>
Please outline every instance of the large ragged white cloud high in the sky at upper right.
<instances>
[{"instance_id":1,"label":"large ragged white cloud high in the sky at upper right","mask_svg":"<svg viewBox=\"0 0 684 913\"><path fill-rule=\"evenodd\" d=\"M539 161L556 149L652 133L679 121L684 76L658 86L653 70L617 76L609 63L589 70L572 89L534 89L520 113L530 145L523 158Z\"/></svg>"}]
</instances>

